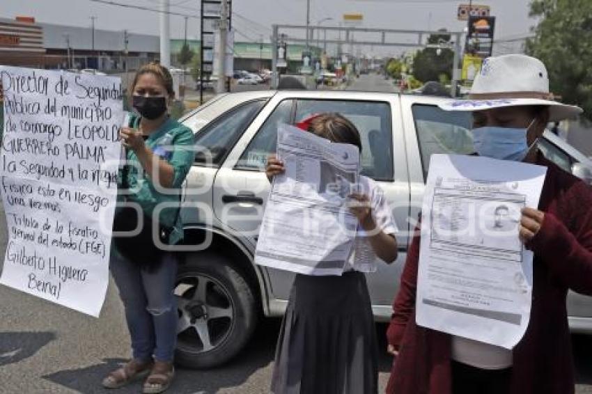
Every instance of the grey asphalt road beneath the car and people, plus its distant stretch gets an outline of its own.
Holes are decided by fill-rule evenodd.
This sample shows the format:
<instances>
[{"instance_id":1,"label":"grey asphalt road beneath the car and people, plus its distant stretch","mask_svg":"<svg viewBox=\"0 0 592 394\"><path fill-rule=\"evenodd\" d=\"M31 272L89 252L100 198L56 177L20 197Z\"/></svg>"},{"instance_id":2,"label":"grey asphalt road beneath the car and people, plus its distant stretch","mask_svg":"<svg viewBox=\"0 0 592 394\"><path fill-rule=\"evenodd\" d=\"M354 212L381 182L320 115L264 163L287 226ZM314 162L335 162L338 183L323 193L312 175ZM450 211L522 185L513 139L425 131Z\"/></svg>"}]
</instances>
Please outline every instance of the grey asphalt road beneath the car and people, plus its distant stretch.
<instances>
[{"instance_id":1,"label":"grey asphalt road beneath the car and people, plus its distant stretch","mask_svg":"<svg viewBox=\"0 0 592 394\"><path fill-rule=\"evenodd\" d=\"M362 75L350 88L390 88L390 81ZM394 91L394 90L382 90ZM0 255L6 249L0 210ZM1 265L1 262L0 262ZM109 285L99 319L0 286L0 393L139 393L141 383L105 391L100 381L129 356L130 340L116 287ZM377 326L384 349L384 325ZM279 320L263 320L249 345L215 370L178 370L169 393L268 393ZM592 394L592 336L574 336L578 394ZM380 358L381 391L391 358Z\"/></svg>"}]
</instances>

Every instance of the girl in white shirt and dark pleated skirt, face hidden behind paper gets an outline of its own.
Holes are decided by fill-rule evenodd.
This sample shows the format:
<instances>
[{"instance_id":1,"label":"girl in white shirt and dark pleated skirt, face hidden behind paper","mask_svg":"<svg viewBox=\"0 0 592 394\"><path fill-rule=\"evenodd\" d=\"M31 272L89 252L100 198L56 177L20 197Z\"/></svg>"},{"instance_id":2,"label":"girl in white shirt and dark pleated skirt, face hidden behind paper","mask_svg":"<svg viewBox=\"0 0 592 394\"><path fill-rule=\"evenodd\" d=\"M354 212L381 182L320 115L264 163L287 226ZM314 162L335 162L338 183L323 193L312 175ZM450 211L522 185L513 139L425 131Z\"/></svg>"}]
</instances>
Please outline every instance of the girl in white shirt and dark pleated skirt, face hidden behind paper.
<instances>
[{"instance_id":1,"label":"girl in white shirt and dark pleated skirt, face hidden behind paper","mask_svg":"<svg viewBox=\"0 0 592 394\"><path fill-rule=\"evenodd\" d=\"M298 127L361 151L356 127L338 114L313 116ZM270 157L267 177L283 172L283 163ZM277 344L273 393L377 393L377 342L364 276L376 267L357 264L356 252L368 242L378 258L394 262L397 228L380 187L359 178L359 193L349 195L350 211L359 220L355 250L341 276L297 274Z\"/></svg>"}]
</instances>

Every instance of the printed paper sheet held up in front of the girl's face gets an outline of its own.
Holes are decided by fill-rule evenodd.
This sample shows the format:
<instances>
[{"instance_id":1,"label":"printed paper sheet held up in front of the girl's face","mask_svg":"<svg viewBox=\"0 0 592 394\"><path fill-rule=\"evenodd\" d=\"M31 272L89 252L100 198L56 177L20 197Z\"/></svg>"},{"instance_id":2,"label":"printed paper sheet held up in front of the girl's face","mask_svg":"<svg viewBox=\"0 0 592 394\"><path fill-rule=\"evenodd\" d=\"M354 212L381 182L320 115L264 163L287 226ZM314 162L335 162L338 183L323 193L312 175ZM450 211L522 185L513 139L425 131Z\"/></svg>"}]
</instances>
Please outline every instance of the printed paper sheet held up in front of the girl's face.
<instances>
[{"instance_id":1,"label":"printed paper sheet held up in front of the girl's face","mask_svg":"<svg viewBox=\"0 0 592 394\"><path fill-rule=\"evenodd\" d=\"M281 125L277 155L286 173L274 178L255 262L301 274L341 275L357 229L345 201L358 183L358 149Z\"/></svg>"}]
</instances>

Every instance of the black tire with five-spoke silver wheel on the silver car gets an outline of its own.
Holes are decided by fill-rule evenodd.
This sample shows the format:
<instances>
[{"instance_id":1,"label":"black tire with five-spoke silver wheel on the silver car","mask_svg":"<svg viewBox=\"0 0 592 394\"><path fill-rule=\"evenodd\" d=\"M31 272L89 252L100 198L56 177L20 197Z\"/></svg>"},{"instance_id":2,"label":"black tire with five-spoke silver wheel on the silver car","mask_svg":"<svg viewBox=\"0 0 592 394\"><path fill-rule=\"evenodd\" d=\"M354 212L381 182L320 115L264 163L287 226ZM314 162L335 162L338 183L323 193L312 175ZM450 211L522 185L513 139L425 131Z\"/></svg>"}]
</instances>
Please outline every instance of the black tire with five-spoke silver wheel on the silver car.
<instances>
[{"instance_id":1,"label":"black tire with five-spoke silver wheel on the silver car","mask_svg":"<svg viewBox=\"0 0 592 394\"><path fill-rule=\"evenodd\" d=\"M254 291L224 255L187 255L185 264L179 265L175 294L179 365L221 365L240 352L251 338L257 324Z\"/></svg>"}]
</instances>

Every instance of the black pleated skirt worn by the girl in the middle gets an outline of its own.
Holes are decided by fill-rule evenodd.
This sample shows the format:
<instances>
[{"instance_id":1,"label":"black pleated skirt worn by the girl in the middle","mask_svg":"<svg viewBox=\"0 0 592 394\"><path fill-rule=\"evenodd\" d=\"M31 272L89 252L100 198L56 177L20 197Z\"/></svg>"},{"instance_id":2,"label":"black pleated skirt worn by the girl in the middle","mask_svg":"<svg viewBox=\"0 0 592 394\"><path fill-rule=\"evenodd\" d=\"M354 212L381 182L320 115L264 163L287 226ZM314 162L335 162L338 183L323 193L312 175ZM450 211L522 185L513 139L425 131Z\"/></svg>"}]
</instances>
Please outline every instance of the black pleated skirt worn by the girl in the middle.
<instances>
[{"instance_id":1,"label":"black pleated skirt worn by the girl in the middle","mask_svg":"<svg viewBox=\"0 0 592 394\"><path fill-rule=\"evenodd\" d=\"M377 363L364 274L297 275L277 343L272 393L375 394Z\"/></svg>"}]
</instances>

